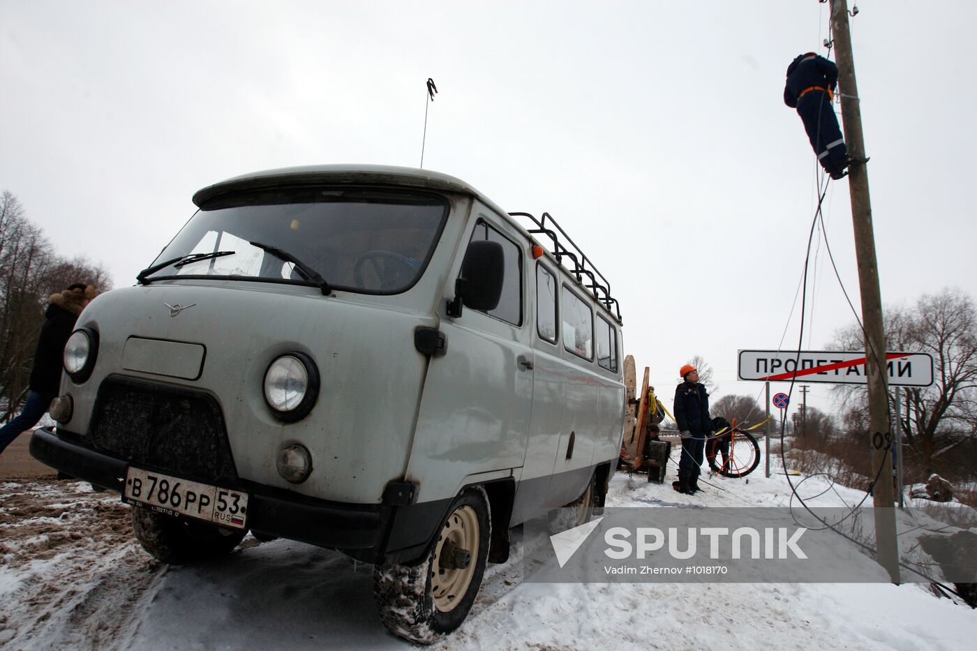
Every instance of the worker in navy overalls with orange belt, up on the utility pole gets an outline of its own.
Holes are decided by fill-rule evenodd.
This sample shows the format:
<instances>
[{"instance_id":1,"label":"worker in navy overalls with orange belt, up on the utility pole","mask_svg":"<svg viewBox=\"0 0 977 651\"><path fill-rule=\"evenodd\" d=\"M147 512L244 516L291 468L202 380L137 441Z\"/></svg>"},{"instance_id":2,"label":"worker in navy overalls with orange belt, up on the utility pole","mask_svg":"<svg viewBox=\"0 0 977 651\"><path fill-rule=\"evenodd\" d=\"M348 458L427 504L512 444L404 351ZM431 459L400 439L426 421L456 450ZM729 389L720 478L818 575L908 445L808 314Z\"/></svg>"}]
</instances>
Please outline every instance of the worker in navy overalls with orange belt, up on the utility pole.
<instances>
[{"instance_id":1,"label":"worker in navy overalls with orange belt, up on the utility pole","mask_svg":"<svg viewBox=\"0 0 977 651\"><path fill-rule=\"evenodd\" d=\"M853 162L832 105L837 85L838 66L813 52L798 55L787 66L784 103L797 109L818 162L832 179L843 177Z\"/></svg>"}]
</instances>

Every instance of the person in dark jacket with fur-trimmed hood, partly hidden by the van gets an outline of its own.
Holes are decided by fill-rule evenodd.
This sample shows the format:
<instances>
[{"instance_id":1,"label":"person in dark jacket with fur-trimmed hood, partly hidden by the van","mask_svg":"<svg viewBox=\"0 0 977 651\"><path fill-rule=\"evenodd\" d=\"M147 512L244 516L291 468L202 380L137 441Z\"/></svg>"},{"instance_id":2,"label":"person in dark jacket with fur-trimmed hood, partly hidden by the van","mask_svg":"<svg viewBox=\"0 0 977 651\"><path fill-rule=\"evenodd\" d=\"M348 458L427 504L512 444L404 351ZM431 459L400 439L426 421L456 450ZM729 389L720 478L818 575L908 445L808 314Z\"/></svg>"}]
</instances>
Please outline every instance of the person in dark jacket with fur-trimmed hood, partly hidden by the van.
<instances>
[{"instance_id":1,"label":"person in dark jacket with fur-trimmed hood, partly hidden by the van","mask_svg":"<svg viewBox=\"0 0 977 651\"><path fill-rule=\"evenodd\" d=\"M34 368L30 371L30 394L21 415L0 428L0 453L24 431L38 423L48 411L51 401L58 397L64 367L64 344L67 343L78 315L95 298L91 285L75 283L60 294L51 295L51 304L44 313L47 321L41 328L41 338L34 353Z\"/></svg>"}]
</instances>

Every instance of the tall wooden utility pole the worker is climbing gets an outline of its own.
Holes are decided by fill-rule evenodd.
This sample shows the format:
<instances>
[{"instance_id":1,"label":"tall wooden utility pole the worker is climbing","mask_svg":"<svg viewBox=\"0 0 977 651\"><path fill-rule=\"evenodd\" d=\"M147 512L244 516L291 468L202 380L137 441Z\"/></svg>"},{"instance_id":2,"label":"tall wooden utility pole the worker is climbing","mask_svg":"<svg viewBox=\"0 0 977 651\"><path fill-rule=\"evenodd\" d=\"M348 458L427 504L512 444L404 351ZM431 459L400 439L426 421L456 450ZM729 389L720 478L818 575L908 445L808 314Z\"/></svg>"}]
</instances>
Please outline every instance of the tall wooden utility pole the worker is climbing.
<instances>
[{"instance_id":1,"label":"tall wooden utility pole the worker is climbing","mask_svg":"<svg viewBox=\"0 0 977 651\"><path fill-rule=\"evenodd\" d=\"M841 115L844 119L848 155L865 158L862 136L862 110L855 83L855 59L852 56L851 31L848 27L848 3L831 0L831 29L834 32L835 58L838 64L838 86L841 93ZM872 476L877 477L872 490L875 516L875 546L878 563L899 583L899 547L896 540L896 512L892 490L892 427L889 422L888 388L886 387L885 328L882 325L882 298L875 259L875 236L871 226L869 170L864 163L848 168L848 192L852 202L855 226L855 254L858 258L859 287L862 291L862 322L865 324L866 375L869 381L869 424L871 431Z\"/></svg>"}]
</instances>

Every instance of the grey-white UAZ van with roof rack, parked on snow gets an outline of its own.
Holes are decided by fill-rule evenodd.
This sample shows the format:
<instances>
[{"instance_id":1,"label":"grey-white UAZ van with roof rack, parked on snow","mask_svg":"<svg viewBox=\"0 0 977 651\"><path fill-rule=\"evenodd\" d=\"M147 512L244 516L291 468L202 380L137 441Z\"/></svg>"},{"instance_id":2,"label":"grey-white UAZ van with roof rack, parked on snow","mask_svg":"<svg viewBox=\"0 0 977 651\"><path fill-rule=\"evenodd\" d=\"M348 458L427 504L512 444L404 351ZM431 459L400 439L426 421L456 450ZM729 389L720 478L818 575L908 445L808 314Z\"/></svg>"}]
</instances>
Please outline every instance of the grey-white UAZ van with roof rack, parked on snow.
<instances>
[{"instance_id":1,"label":"grey-white UAZ van with roof rack, parked on snow","mask_svg":"<svg viewBox=\"0 0 977 651\"><path fill-rule=\"evenodd\" d=\"M248 174L193 202L139 284L82 313L58 424L31 439L121 493L153 556L202 561L248 531L336 548L375 565L383 622L430 642L511 527L603 505L620 314L549 215L361 165Z\"/></svg>"}]
</instances>

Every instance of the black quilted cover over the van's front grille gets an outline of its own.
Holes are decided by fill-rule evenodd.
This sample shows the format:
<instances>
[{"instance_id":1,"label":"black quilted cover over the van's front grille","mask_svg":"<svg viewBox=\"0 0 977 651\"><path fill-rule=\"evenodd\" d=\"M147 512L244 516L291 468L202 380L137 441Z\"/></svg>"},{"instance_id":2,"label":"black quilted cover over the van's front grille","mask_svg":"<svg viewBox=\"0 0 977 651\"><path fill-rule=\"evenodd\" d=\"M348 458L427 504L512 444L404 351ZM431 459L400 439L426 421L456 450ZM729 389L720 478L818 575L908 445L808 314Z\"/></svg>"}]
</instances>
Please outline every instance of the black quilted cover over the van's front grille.
<instances>
[{"instance_id":1,"label":"black quilted cover over the van's front grille","mask_svg":"<svg viewBox=\"0 0 977 651\"><path fill-rule=\"evenodd\" d=\"M236 484L220 406L198 391L108 377L89 426L96 449L191 479Z\"/></svg>"}]
</instances>

